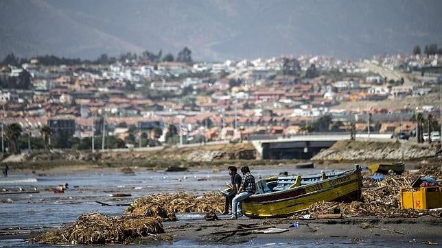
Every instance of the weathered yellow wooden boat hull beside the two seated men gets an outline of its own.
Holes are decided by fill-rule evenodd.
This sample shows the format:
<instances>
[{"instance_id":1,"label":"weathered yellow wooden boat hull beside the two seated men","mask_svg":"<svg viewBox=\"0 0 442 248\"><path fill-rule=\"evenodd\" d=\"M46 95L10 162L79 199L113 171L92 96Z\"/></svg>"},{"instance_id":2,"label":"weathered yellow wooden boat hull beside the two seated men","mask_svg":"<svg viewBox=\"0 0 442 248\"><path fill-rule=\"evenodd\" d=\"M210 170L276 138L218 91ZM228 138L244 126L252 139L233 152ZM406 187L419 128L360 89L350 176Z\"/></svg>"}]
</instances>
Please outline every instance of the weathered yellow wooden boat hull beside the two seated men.
<instances>
[{"instance_id":1,"label":"weathered yellow wooden boat hull beside the two seated men","mask_svg":"<svg viewBox=\"0 0 442 248\"><path fill-rule=\"evenodd\" d=\"M251 195L242 202L242 212L255 219L283 217L307 210L318 201L359 200L362 188L360 171L360 166L355 165L351 171L336 173L318 182Z\"/></svg>"}]
</instances>

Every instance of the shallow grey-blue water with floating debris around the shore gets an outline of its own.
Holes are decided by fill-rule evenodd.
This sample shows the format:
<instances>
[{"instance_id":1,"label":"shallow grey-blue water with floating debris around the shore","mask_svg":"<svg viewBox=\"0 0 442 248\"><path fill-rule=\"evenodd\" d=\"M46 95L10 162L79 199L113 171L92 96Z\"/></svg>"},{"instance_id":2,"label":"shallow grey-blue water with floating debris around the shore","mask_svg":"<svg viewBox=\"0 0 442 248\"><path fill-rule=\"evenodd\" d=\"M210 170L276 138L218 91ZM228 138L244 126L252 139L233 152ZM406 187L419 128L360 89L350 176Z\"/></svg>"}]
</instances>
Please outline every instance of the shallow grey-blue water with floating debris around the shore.
<instances>
[{"instance_id":1,"label":"shallow grey-blue water with floating debris around the shore","mask_svg":"<svg viewBox=\"0 0 442 248\"><path fill-rule=\"evenodd\" d=\"M345 170L351 168L345 168ZM305 175L318 173L320 169L294 169L291 166L253 166L255 177L277 175L281 171L290 174ZM148 171L139 169L135 175L126 175L119 170L104 170L102 172L58 173L48 175L14 174L0 178L0 188L10 191L18 188L37 188L36 194L0 195L0 247L40 246L26 243L23 238L29 236L31 230L46 227L60 227L72 223L78 216L86 212L100 212L110 216L124 214L127 206L102 206L95 201L109 204L131 203L138 197L158 193L185 192L196 195L213 193L226 187L230 177L226 170L213 172L213 169L191 169L183 172ZM55 194L51 188L68 183L65 193ZM125 193L130 197L111 197L111 194ZM181 221L202 219L203 214L177 214ZM9 234L9 235L8 235ZM21 235L23 234L23 235ZM23 238L22 238L23 237ZM189 241L175 243L158 243L157 246L173 247L213 247ZM329 240L268 240L255 238L237 247L400 247L410 245L404 241L386 243L351 244L345 239ZM230 245L215 245L230 247ZM65 247L65 246L64 246ZM80 247L80 246L75 246ZM86 247L86 246L84 246ZM146 245L113 245L113 247L146 247Z\"/></svg>"}]
</instances>

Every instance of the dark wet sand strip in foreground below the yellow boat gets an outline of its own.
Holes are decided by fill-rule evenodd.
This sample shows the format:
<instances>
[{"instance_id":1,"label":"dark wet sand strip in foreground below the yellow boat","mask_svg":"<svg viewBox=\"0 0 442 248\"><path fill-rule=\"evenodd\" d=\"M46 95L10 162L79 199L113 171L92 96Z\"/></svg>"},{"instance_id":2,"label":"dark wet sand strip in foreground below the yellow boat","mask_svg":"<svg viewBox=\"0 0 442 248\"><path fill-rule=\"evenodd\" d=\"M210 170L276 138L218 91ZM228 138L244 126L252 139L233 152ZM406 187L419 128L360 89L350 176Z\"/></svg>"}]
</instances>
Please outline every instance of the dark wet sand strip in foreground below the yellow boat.
<instances>
[{"instance_id":1,"label":"dark wet sand strip in foreground below the yellow boat","mask_svg":"<svg viewBox=\"0 0 442 248\"><path fill-rule=\"evenodd\" d=\"M352 217L337 220L299 221L299 227L289 227L296 221L290 219L237 220L221 216L218 221L186 221L163 223L165 234L173 242L185 241L207 245L233 245L251 242L265 245L272 242L292 244L315 244L336 242L342 244L367 244L400 240L405 244L442 245L442 219L420 217L417 219L380 219L377 217ZM277 227L285 232L264 234L259 230L241 231L244 228ZM216 232L233 231L221 234ZM322 241L321 241L322 240ZM173 243L172 242L172 243Z\"/></svg>"}]
</instances>

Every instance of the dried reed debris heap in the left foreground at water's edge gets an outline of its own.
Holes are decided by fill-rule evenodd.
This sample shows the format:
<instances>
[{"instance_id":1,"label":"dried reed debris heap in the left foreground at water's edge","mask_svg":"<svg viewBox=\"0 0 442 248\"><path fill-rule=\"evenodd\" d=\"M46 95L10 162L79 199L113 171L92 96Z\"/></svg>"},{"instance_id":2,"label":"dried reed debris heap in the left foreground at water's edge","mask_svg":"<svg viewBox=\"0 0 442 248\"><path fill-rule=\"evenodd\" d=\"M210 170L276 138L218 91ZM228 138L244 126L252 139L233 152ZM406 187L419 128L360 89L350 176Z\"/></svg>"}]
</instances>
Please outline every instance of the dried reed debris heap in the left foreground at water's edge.
<instances>
[{"instance_id":1,"label":"dried reed debris heap in the left foreground at water's edge","mask_svg":"<svg viewBox=\"0 0 442 248\"><path fill-rule=\"evenodd\" d=\"M51 230L32 238L33 242L70 245L124 244L131 238L163 233L161 219L143 216L82 214L64 230Z\"/></svg>"}]
</instances>

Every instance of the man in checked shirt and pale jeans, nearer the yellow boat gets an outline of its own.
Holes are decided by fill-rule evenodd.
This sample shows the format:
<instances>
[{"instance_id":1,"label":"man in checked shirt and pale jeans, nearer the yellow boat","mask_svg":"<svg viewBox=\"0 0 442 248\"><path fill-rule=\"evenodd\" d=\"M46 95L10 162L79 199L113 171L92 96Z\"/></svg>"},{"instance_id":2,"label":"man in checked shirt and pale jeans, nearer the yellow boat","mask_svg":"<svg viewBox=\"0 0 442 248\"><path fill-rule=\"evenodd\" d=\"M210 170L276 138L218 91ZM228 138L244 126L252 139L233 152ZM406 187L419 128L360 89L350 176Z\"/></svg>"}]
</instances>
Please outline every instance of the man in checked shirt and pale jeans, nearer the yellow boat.
<instances>
[{"instance_id":1,"label":"man in checked shirt and pale jeans, nearer the yellow boat","mask_svg":"<svg viewBox=\"0 0 442 248\"><path fill-rule=\"evenodd\" d=\"M248 166L242 166L241 172L243 175L242 182L236 196L232 200L231 219L237 219L238 217L242 216L242 201L244 201L247 197L255 194L256 192L255 177L253 177L253 175L250 173L250 169L248 169Z\"/></svg>"}]
</instances>

